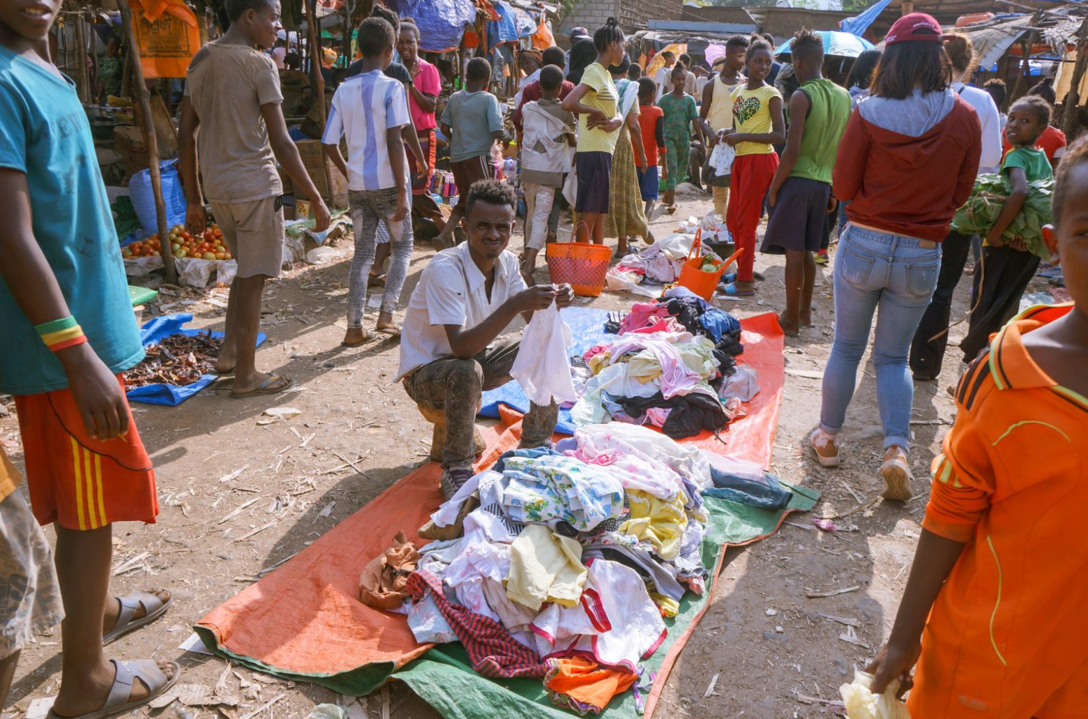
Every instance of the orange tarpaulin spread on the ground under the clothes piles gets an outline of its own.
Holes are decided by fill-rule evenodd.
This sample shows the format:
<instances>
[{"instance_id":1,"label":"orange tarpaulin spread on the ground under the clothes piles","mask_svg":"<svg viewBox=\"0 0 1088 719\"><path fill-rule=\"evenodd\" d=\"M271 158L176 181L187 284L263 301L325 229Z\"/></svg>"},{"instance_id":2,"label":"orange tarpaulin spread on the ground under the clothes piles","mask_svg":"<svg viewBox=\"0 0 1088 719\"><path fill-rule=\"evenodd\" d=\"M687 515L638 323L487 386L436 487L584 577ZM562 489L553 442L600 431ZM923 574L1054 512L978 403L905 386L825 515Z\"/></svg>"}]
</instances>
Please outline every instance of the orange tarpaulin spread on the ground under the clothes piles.
<instances>
[{"instance_id":1,"label":"orange tarpaulin spread on the ground under the clothes piles","mask_svg":"<svg viewBox=\"0 0 1088 719\"><path fill-rule=\"evenodd\" d=\"M742 320L741 327L745 349L738 360L757 371L761 391L721 439L704 433L690 442L766 467L784 380L783 336L774 313ZM520 414L505 406L499 413L503 422L496 429L481 427L487 449L478 470L493 466L520 438ZM432 645L418 644L403 616L359 602L358 578L397 532L403 530L417 546L425 544L416 530L442 503L440 472L436 462L411 472L275 572L210 611L197 625L206 644L248 666L319 680L337 691L371 681L378 686L420 657ZM693 630L694 624L670 646L654 698Z\"/></svg>"}]
</instances>

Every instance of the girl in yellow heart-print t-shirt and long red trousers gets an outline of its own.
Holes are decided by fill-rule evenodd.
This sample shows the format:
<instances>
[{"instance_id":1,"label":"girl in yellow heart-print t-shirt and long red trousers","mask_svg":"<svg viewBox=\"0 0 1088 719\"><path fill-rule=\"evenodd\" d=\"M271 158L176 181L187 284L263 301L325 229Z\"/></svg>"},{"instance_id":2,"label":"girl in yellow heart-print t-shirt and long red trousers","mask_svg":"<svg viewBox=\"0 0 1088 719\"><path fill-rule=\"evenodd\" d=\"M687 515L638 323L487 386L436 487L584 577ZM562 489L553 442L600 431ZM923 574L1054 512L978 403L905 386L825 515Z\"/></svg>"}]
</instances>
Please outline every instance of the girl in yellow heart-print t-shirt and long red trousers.
<instances>
[{"instance_id":1,"label":"girl in yellow heart-print t-shirt and long red trousers","mask_svg":"<svg viewBox=\"0 0 1088 719\"><path fill-rule=\"evenodd\" d=\"M769 42L756 40L749 46L744 55L747 83L732 91L733 128L719 133L725 134L726 142L737 148L726 225L737 248L744 250L737 261L737 281L725 286L727 295L755 294L752 277L755 231L759 225L763 199L778 170L778 154L772 146L786 141L782 96L764 82L772 62Z\"/></svg>"}]
</instances>

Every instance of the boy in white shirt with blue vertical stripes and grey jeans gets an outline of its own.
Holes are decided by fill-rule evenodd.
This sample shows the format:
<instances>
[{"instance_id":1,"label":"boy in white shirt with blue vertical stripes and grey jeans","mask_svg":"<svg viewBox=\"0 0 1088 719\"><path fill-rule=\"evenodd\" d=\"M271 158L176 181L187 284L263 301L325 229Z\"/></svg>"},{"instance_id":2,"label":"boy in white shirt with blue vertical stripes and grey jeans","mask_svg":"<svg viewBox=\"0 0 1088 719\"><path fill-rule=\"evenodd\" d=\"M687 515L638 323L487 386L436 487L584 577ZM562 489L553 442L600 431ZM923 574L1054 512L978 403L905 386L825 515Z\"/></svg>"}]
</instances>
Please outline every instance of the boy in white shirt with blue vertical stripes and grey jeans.
<instances>
[{"instance_id":1,"label":"boy in white shirt with blue vertical stripes and grey jeans","mask_svg":"<svg viewBox=\"0 0 1088 719\"><path fill-rule=\"evenodd\" d=\"M392 245L385 295L375 330L399 336L393 320L400 288L411 260L411 211L408 160L400 128L411 126L404 86L385 76L393 61L393 26L381 17L368 17L359 26L362 72L344 80L333 96L322 145L348 178L348 203L355 226L355 258L348 285L347 333L344 345L354 347L370 338L362 328L367 306L367 281L374 263L378 223L384 223ZM339 151L347 136L348 160Z\"/></svg>"}]
</instances>

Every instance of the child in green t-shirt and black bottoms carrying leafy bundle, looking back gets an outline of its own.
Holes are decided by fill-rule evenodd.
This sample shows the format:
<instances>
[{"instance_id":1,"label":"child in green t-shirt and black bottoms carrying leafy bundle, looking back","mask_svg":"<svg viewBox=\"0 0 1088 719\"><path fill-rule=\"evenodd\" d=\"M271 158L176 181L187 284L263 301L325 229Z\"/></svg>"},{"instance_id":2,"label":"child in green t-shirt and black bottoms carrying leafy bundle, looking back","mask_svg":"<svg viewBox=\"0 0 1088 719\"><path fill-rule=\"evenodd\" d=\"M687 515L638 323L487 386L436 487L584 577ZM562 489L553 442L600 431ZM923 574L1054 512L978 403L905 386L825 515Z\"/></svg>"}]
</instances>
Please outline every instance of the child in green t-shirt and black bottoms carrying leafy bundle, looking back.
<instances>
[{"instance_id":1,"label":"child in green t-shirt and black bottoms carrying leafy bundle, looking back","mask_svg":"<svg viewBox=\"0 0 1088 719\"><path fill-rule=\"evenodd\" d=\"M1027 251L1019 237L1001 238L1024 209L1028 183L1054 176L1046 152L1036 141L1050 124L1050 104L1036 95L1013 103L1005 121L1005 139L1012 150L1001 162L1001 174L1009 177L1012 193L1005 198L998 221L986 234L980 266L975 273L975 306L970 312L967 336L960 343L963 361L970 362L990 344L990 335L1000 330L1019 309L1019 300L1039 268L1039 256Z\"/></svg>"}]
</instances>

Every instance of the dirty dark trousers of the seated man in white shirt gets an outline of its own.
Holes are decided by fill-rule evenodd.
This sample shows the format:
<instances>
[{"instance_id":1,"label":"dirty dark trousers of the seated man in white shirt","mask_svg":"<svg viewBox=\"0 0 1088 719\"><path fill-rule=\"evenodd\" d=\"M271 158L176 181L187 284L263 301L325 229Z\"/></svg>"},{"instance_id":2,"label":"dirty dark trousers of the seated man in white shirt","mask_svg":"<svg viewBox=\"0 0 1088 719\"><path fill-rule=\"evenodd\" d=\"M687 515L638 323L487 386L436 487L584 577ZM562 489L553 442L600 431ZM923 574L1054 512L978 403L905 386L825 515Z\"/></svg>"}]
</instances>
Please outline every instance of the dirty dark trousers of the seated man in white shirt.
<instances>
[{"instance_id":1,"label":"dirty dark trousers of the seated man in white shirt","mask_svg":"<svg viewBox=\"0 0 1088 719\"><path fill-rule=\"evenodd\" d=\"M446 419L446 446L442 466L471 467L475 456L473 432L480 396L510 381L510 368L521 343L497 342L472 359L454 357L424 364L405 377L405 391L421 409L442 410ZM521 446L541 447L552 438L559 406L531 405L521 424Z\"/></svg>"}]
</instances>

